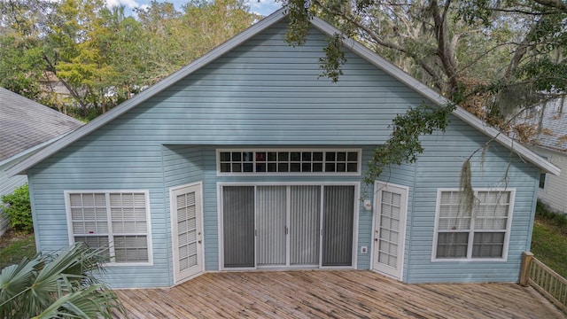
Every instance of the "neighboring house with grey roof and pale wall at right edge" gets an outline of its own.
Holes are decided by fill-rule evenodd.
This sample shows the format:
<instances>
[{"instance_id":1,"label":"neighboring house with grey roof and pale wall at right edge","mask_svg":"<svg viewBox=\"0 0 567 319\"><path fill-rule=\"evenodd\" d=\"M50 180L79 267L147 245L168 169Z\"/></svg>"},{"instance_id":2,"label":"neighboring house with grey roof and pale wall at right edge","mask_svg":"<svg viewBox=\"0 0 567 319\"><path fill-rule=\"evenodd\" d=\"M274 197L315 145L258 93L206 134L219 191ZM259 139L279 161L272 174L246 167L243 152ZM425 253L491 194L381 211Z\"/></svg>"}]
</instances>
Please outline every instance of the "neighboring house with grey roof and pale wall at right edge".
<instances>
[{"instance_id":1,"label":"neighboring house with grey roof and pale wall at right edge","mask_svg":"<svg viewBox=\"0 0 567 319\"><path fill-rule=\"evenodd\" d=\"M567 169L567 100L557 98L549 101L534 112L526 113L522 121L532 129L527 143L532 151L537 152L555 166ZM531 130L530 130L531 132ZM543 204L556 213L567 214L567 178L561 175L540 175L539 198Z\"/></svg>"}]
</instances>

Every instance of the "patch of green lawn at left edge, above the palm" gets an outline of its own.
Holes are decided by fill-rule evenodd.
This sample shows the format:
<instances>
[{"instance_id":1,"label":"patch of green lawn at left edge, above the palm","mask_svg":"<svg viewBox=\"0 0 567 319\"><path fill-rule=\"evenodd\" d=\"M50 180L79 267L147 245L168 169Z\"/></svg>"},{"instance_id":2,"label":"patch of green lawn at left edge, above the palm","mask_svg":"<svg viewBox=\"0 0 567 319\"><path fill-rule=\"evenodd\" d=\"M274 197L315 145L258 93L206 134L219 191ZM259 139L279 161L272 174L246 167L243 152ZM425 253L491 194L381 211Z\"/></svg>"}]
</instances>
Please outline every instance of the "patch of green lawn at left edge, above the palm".
<instances>
[{"instance_id":1,"label":"patch of green lawn at left edge, above the palm","mask_svg":"<svg viewBox=\"0 0 567 319\"><path fill-rule=\"evenodd\" d=\"M34 234L8 230L0 238L0 269L35 256Z\"/></svg>"}]
</instances>

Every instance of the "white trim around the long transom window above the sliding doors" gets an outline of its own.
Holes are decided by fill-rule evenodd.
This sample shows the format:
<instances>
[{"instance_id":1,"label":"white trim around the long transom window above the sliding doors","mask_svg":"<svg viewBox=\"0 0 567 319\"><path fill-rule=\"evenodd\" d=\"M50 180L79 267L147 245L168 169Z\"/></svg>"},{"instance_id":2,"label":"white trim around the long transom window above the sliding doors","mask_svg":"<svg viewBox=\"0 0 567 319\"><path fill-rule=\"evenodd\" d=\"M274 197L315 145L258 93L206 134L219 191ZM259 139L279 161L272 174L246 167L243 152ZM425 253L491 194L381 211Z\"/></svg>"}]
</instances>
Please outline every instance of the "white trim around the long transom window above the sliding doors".
<instances>
[{"instance_id":1,"label":"white trim around the long transom window above the sliding doors","mask_svg":"<svg viewBox=\"0 0 567 319\"><path fill-rule=\"evenodd\" d=\"M221 172L221 152L357 152L357 170L356 172L241 172L241 173L226 173ZM325 160L322 161L323 166ZM217 149L216 150L216 175L217 176L359 176L361 175L362 163L362 149L361 148L255 148L255 147L241 147L230 149Z\"/></svg>"}]
</instances>

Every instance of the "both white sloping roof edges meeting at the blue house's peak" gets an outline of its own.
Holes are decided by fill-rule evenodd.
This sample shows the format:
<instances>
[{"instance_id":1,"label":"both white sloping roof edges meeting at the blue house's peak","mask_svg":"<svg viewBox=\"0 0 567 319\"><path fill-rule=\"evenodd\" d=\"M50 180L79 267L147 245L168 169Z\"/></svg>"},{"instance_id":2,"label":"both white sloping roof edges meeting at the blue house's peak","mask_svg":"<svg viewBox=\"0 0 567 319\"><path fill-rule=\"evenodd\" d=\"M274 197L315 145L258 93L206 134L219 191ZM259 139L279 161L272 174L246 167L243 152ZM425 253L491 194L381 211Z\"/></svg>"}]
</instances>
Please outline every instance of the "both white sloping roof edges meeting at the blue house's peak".
<instances>
[{"instance_id":1,"label":"both white sloping roof edges meeting at the blue house's peak","mask_svg":"<svg viewBox=\"0 0 567 319\"><path fill-rule=\"evenodd\" d=\"M66 136L65 138L62 138L57 142L50 144L50 146L46 147L41 152L37 152L28 159L21 161L18 165L7 170L8 175L16 175L27 170L27 168L29 167L35 166L35 164L38 164L43 159L46 159L50 157L50 155L62 150L67 145L74 143L74 141L77 141L78 139L82 138L82 136L89 135L89 133L97 130L97 128L101 128L106 123L113 121L121 114L127 113L129 110L136 107L136 105L140 105L145 100L158 94L161 90L167 89L167 87L173 85L175 82L182 80L184 77L196 72L201 67L206 66L214 59L221 57L221 55L225 54L228 51L233 50L240 44L245 43L245 41L251 39L253 36L260 34L260 32L266 30L268 27L271 27L276 23L280 22L285 18L284 12L285 12L285 8L282 8L277 12L274 12L273 14L269 15L267 18L260 20L260 22L256 23L252 27L247 28L244 32L234 36L229 41L222 43L218 47L214 48L212 51L209 51L208 53L206 53L206 55L191 62L188 66L184 66L182 69L175 72L174 74L169 75L164 80L152 85L148 89L145 89L142 93L138 94L136 97L132 97L128 101L125 101L121 105L113 108L113 110L97 117L97 119L95 119L94 121L89 122L89 124L83 126L82 128L77 129L69 136ZM326 35L332 36L340 33L337 28L332 27L327 22L316 17L311 20L311 24L313 27L317 28L323 34ZM447 105L447 103L449 103L447 98L441 97L439 93L430 89L422 82L418 82L409 74L406 74L400 68L392 65L392 63L388 62L384 58L379 57L375 52L370 51L367 47L365 47L361 43L357 43L352 39L344 39L343 45L348 50L353 51L353 53L358 54L359 56L361 56L361 58L364 58L367 61L369 61L369 63L382 69L386 74L392 75L392 77L394 77L395 79L408 85L409 88L415 89L423 97L426 97L427 99L431 100L431 102L437 105ZM484 121L479 120L477 117L468 113L461 107L457 107L454 110L453 114L454 116L461 119L462 121L465 121L472 127L477 128L479 131L483 132L486 136L490 136L495 141L505 145L507 148L509 148L509 150L516 152L522 159L531 162L533 165L537 167L540 167L542 170L555 175L559 175L559 173L561 172L561 170L558 167L555 167L555 165L549 163L546 159L541 158L539 155L530 151L523 145L518 144L509 136L501 134L501 132L498 131L497 129L487 126Z\"/></svg>"}]
</instances>

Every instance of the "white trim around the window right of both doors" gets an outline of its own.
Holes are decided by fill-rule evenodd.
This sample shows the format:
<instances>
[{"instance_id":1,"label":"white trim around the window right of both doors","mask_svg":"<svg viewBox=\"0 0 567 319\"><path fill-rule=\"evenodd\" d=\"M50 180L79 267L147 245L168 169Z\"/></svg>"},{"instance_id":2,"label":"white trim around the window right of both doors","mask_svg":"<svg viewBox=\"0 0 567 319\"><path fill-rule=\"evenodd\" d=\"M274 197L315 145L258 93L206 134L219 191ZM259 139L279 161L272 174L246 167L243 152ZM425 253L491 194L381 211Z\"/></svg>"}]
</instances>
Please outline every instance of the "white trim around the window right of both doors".
<instances>
[{"instance_id":1,"label":"white trim around the window right of both doors","mask_svg":"<svg viewBox=\"0 0 567 319\"><path fill-rule=\"evenodd\" d=\"M440 209L440 202L441 202L441 193L444 191L461 191L458 188L443 188L437 190L437 199L435 203L435 227L433 232L433 248L431 250L431 261L432 262L446 262L446 261L468 261L468 262L478 262L478 261L508 261L508 250L509 250L509 239L510 239L510 231L512 227L512 214L514 213L514 203L516 201L516 189L510 188L474 188L473 191L478 193L478 191L509 191L510 198L509 198L509 214L508 220L506 223L506 232L504 234L504 246L502 247L502 258L437 258L437 241L439 237L439 209ZM463 231L464 232L464 231ZM475 232L474 229L468 230L471 234ZM470 255L470 243L471 237L469 237L469 249L468 255Z\"/></svg>"}]
</instances>

